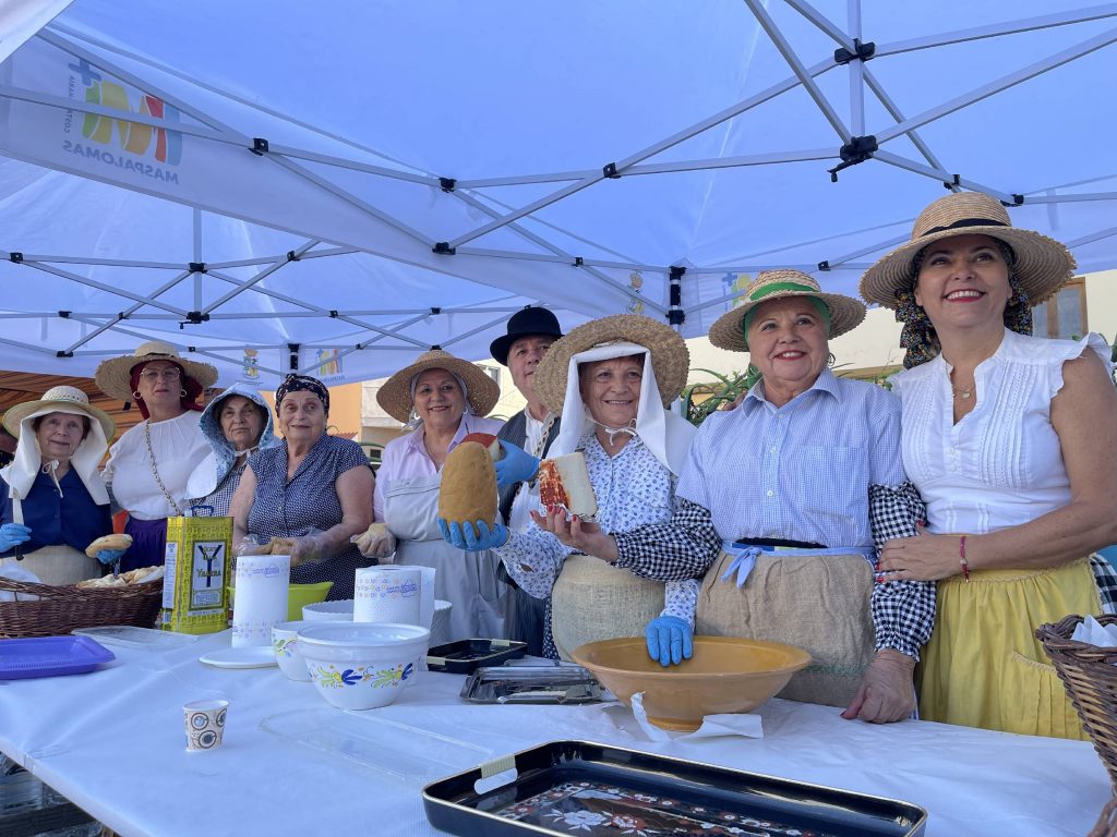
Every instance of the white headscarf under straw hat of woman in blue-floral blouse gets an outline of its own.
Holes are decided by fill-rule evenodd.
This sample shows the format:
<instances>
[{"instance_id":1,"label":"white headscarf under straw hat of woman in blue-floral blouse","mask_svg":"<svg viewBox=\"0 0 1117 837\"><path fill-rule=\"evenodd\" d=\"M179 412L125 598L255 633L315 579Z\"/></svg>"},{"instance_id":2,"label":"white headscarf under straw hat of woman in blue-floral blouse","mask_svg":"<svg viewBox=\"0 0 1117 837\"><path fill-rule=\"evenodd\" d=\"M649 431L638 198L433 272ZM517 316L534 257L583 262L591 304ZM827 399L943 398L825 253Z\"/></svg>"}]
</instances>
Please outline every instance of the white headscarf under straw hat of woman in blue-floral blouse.
<instances>
[{"instance_id":1,"label":"white headscarf under straw hat of woman in blue-floral blouse","mask_svg":"<svg viewBox=\"0 0 1117 837\"><path fill-rule=\"evenodd\" d=\"M640 436L640 441L667 470L678 477L687 461L690 440L694 439L697 429L690 422L663 408L648 349L636 343L608 343L571 356L566 369L566 398L563 402L562 424L547 453L551 456L573 453L582 436L594 429L590 410L582 402L579 365L630 355L643 356L643 379L640 384L640 402L636 413L636 435Z\"/></svg>"}]
</instances>

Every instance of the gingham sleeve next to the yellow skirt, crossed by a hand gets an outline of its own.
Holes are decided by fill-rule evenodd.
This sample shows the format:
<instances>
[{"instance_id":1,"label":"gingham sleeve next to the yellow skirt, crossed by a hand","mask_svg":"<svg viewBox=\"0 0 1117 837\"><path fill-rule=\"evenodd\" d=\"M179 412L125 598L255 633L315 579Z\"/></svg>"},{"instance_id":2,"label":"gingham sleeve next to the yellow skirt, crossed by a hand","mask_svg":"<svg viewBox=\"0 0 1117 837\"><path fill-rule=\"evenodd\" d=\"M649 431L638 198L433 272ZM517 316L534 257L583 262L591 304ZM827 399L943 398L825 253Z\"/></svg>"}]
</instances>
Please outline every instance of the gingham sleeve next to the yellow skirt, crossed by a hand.
<instances>
[{"instance_id":1,"label":"gingham sleeve next to the yellow skirt, crossed by a hand","mask_svg":"<svg viewBox=\"0 0 1117 837\"><path fill-rule=\"evenodd\" d=\"M869 487L869 517L877 550L892 538L913 538L926 507L910 482ZM935 626L934 581L885 581L872 587L870 609L877 651L891 648L919 660Z\"/></svg>"}]
</instances>

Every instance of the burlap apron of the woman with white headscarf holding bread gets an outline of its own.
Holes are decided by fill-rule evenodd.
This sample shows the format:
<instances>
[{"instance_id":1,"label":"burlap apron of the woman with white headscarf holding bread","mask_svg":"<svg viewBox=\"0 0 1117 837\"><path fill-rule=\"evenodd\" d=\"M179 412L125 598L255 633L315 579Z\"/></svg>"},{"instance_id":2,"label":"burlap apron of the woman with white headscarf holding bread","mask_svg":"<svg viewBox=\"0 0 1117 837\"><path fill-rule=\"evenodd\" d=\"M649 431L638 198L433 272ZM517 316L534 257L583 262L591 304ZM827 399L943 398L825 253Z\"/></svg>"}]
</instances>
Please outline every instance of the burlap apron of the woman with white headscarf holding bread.
<instances>
[{"instance_id":1,"label":"burlap apron of the woman with white headscarf holding bread","mask_svg":"<svg viewBox=\"0 0 1117 837\"><path fill-rule=\"evenodd\" d=\"M570 555L551 588L551 635L563 660L598 639L643 636L663 609L663 584L588 555Z\"/></svg>"}]
</instances>

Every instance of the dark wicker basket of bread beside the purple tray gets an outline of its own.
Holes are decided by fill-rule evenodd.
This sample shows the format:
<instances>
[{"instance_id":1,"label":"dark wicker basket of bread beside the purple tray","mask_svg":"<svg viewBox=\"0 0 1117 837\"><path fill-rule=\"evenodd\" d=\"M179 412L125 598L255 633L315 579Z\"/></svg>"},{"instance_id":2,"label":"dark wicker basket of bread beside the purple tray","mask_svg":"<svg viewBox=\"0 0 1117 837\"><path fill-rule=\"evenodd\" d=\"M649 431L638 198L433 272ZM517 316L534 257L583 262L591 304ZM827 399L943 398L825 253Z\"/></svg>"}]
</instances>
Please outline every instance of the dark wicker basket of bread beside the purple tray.
<instances>
[{"instance_id":1,"label":"dark wicker basket of bread beside the purple tray","mask_svg":"<svg viewBox=\"0 0 1117 837\"><path fill-rule=\"evenodd\" d=\"M99 625L152 627L163 602L163 585L154 583L79 588L0 578L0 591L39 597L0 602L0 638L60 636Z\"/></svg>"}]
</instances>

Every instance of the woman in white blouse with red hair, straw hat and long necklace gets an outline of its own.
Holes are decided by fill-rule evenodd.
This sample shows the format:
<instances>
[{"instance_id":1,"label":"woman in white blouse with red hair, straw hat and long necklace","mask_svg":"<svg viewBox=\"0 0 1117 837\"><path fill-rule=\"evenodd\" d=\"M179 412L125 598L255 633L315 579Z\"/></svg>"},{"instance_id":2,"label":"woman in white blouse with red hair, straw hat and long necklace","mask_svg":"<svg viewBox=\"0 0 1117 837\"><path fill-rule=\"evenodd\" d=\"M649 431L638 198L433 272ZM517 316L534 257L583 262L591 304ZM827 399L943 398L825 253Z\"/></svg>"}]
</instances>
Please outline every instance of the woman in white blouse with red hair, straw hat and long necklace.
<instances>
[{"instance_id":1,"label":"woman in white blouse with red hair, straw hat and long necklace","mask_svg":"<svg viewBox=\"0 0 1117 837\"><path fill-rule=\"evenodd\" d=\"M217 369L151 340L132 355L104 360L96 381L106 395L135 402L144 417L108 449L105 463L113 500L128 512L132 546L121 571L163 564L166 519L187 513L187 481L210 453L198 398L217 382Z\"/></svg>"}]
</instances>

